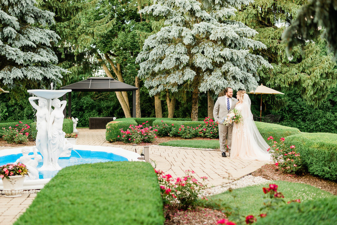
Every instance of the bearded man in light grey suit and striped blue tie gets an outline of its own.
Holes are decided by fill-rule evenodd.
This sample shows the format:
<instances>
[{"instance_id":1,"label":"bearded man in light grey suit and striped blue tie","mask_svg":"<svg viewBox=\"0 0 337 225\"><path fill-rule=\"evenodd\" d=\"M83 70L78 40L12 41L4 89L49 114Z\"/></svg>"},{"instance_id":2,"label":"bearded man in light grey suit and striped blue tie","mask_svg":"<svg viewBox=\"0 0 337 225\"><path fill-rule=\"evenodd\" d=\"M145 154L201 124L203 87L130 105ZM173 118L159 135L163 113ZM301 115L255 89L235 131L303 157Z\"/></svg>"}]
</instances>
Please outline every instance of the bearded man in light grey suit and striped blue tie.
<instances>
[{"instance_id":1,"label":"bearded man in light grey suit and striped blue tie","mask_svg":"<svg viewBox=\"0 0 337 225\"><path fill-rule=\"evenodd\" d=\"M227 137L228 154L231 155L233 124L224 126L220 124L220 122L227 116L229 111L234 109L235 104L237 102L238 100L236 98L233 98L233 89L227 87L225 89L225 96L219 97L214 105L213 116L214 121L218 124L219 128L219 142L222 157L227 157L225 153L226 137Z\"/></svg>"}]
</instances>

